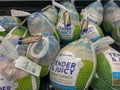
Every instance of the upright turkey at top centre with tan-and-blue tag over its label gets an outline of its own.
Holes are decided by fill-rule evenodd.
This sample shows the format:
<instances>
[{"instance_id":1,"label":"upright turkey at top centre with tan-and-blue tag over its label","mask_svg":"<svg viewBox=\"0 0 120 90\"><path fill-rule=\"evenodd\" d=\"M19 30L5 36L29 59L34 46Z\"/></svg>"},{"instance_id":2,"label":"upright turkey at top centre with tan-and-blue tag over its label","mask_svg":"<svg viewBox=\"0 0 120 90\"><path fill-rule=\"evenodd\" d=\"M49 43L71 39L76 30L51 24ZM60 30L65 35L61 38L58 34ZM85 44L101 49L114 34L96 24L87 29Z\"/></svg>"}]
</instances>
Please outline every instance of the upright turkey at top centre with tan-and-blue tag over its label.
<instances>
[{"instance_id":1,"label":"upright turkey at top centre with tan-and-blue tag over its label","mask_svg":"<svg viewBox=\"0 0 120 90\"><path fill-rule=\"evenodd\" d=\"M58 15L57 29L62 43L69 43L77 40L80 35L79 15L75 5L70 2L64 2L63 5L53 2L60 8Z\"/></svg>"}]
</instances>

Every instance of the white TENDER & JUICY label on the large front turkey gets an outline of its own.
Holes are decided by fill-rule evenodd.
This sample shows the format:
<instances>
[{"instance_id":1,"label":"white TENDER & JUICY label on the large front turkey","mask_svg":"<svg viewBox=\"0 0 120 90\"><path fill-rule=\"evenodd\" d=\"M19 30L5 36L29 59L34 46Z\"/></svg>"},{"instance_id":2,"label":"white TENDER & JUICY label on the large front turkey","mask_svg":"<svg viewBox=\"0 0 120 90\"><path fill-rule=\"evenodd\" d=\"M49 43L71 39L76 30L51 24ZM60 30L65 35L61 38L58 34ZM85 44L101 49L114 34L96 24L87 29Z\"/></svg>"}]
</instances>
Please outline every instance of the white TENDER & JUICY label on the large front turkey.
<instances>
[{"instance_id":1,"label":"white TENDER & JUICY label on the large front turkey","mask_svg":"<svg viewBox=\"0 0 120 90\"><path fill-rule=\"evenodd\" d=\"M72 52L61 52L51 65L50 77L54 84L60 87L75 88L76 79L83 63ZM66 86L66 87L65 87ZM72 89L73 90L73 89Z\"/></svg>"}]
</instances>

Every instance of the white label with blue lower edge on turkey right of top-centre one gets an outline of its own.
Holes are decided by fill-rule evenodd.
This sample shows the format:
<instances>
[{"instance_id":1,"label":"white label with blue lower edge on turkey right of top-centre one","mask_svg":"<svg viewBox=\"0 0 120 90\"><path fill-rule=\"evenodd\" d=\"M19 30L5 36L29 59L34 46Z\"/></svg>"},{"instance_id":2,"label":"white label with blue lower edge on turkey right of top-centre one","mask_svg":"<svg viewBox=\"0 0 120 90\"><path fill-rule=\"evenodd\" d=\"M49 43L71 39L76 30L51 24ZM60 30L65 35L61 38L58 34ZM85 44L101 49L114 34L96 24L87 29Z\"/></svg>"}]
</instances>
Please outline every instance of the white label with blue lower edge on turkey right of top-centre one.
<instances>
[{"instance_id":1,"label":"white label with blue lower edge on turkey right of top-centre one","mask_svg":"<svg viewBox=\"0 0 120 90\"><path fill-rule=\"evenodd\" d=\"M86 37L92 41L100 39L99 32L94 25L88 25L87 30L82 30L81 37Z\"/></svg>"}]
</instances>

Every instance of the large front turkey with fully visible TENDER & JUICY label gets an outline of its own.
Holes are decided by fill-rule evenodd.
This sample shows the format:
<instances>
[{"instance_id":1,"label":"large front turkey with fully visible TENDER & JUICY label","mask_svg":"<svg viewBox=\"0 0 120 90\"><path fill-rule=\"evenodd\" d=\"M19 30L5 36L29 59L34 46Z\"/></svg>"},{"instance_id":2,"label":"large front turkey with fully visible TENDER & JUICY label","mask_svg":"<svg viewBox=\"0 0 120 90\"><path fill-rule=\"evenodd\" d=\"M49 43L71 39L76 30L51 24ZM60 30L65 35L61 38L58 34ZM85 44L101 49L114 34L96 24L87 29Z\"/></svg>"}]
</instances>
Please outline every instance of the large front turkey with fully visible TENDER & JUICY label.
<instances>
[{"instance_id":1,"label":"large front turkey with fully visible TENDER & JUICY label","mask_svg":"<svg viewBox=\"0 0 120 90\"><path fill-rule=\"evenodd\" d=\"M50 68L50 82L60 90L87 90L96 70L94 48L79 39L61 49Z\"/></svg>"}]
</instances>

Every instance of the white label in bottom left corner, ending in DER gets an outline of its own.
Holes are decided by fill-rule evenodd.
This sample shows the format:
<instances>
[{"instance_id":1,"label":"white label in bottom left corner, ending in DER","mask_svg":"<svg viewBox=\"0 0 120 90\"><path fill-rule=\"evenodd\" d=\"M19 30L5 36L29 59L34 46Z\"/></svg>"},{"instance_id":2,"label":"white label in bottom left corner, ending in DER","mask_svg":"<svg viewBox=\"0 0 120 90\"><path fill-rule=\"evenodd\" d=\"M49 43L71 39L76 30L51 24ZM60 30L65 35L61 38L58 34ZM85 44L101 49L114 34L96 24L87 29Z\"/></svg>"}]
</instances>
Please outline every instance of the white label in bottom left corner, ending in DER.
<instances>
[{"instance_id":1,"label":"white label in bottom left corner, ending in DER","mask_svg":"<svg viewBox=\"0 0 120 90\"><path fill-rule=\"evenodd\" d=\"M0 74L0 90L15 90L18 87L14 81L8 81Z\"/></svg>"}]
</instances>

